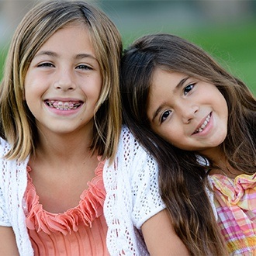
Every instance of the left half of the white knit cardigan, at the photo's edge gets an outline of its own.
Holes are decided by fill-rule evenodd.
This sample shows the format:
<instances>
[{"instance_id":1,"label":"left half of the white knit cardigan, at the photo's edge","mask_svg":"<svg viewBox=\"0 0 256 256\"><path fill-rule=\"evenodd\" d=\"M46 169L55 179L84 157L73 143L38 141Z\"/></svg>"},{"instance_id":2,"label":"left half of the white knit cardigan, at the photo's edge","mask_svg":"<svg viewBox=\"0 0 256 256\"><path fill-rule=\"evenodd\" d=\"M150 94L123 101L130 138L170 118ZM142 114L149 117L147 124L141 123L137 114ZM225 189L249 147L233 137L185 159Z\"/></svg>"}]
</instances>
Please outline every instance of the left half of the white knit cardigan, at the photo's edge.
<instances>
[{"instance_id":1,"label":"left half of the white knit cardigan, at the photo's edge","mask_svg":"<svg viewBox=\"0 0 256 256\"><path fill-rule=\"evenodd\" d=\"M26 216L22 199L26 189L26 164L29 160L18 162L7 160L4 155L9 144L0 139L0 225L12 227L16 236L19 255L33 255L33 248L26 230Z\"/></svg>"}]
</instances>

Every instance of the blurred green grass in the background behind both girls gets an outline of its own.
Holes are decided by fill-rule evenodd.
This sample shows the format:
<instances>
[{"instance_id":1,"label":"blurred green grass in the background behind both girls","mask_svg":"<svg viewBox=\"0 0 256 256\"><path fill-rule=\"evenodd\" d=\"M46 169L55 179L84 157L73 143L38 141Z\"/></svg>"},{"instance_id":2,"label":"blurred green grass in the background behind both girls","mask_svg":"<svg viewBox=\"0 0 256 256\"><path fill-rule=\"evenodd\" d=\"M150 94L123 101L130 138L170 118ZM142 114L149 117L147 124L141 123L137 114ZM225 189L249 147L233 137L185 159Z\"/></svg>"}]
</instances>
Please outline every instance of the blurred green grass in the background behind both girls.
<instances>
[{"instance_id":1,"label":"blurred green grass in the background behind both girls","mask_svg":"<svg viewBox=\"0 0 256 256\"><path fill-rule=\"evenodd\" d=\"M198 44L209 52L216 61L219 61L232 74L244 81L256 95L256 22L237 26L207 27L205 29L164 29L166 33L174 33ZM124 47L137 37L141 31L121 31ZM150 33L150 32L144 32ZM5 49L0 49L0 79L6 56Z\"/></svg>"}]
</instances>

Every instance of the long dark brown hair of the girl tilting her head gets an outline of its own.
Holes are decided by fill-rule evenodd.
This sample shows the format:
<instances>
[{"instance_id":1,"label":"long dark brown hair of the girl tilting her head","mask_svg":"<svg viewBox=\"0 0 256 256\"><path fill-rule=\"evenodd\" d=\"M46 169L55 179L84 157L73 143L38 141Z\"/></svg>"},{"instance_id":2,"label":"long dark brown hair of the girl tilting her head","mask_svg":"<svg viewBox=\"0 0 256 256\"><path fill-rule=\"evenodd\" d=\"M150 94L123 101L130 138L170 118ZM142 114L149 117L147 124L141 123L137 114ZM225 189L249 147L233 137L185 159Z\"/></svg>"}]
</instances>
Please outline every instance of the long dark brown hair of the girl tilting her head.
<instances>
[{"instance_id":1,"label":"long dark brown hair of the girl tilting her head","mask_svg":"<svg viewBox=\"0 0 256 256\"><path fill-rule=\"evenodd\" d=\"M159 164L161 197L176 233L193 255L225 255L227 247L206 193L209 188L206 168L199 164L195 152L173 147L150 128L147 99L156 67L216 85L227 100L229 111L223 150L230 164L247 174L256 171L254 96L204 50L178 36L143 36L123 54L120 74L123 121Z\"/></svg>"}]
</instances>

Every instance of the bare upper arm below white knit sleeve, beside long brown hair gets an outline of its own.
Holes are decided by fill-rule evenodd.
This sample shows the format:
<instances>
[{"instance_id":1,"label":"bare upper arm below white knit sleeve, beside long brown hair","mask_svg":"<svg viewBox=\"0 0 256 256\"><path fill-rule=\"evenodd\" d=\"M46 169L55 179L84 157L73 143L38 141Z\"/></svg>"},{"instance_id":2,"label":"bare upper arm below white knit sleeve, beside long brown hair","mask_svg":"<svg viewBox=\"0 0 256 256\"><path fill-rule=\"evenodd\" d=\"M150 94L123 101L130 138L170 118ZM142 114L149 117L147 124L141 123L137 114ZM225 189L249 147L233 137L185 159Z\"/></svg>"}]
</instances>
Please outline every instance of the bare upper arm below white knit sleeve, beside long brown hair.
<instances>
[{"instance_id":1,"label":"bare upper arm below white knit sleeve, beside long brown hair","mask_svg":"<svg viewBox=\"0 0 256 256\"><path fill-rule=\"evenodd\" d=\"M175 233L166 209L147 220L141 230L151 256L189 255L185 244Z\"/></svg>"}]
</instances>

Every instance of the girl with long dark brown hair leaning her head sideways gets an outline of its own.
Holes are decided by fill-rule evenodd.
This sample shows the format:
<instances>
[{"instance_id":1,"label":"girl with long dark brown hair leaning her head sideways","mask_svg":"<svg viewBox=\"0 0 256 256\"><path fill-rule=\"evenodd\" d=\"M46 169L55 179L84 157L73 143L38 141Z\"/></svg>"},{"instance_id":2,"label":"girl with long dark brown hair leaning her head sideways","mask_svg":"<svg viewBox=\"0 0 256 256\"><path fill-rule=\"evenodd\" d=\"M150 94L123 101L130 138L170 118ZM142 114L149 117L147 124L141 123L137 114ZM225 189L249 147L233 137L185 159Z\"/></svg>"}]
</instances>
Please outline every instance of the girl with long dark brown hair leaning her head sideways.
<instances>
[{"instance_id":1,"label":"girl with long dark brown hair leaning her head sideways","mask_svg":"<svg viewBox=\"0 0 256 256\"><path fill-rule=\"evenodd\" d=\"M141 37L121 62L124 122L160 166L178 237L193 255L255 254L254 95L171 34Z\"/></svg>"}]
</instances>

